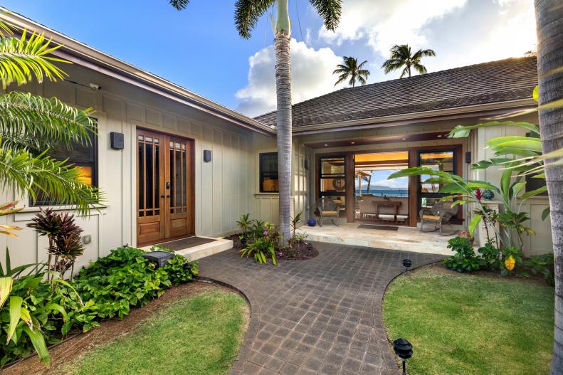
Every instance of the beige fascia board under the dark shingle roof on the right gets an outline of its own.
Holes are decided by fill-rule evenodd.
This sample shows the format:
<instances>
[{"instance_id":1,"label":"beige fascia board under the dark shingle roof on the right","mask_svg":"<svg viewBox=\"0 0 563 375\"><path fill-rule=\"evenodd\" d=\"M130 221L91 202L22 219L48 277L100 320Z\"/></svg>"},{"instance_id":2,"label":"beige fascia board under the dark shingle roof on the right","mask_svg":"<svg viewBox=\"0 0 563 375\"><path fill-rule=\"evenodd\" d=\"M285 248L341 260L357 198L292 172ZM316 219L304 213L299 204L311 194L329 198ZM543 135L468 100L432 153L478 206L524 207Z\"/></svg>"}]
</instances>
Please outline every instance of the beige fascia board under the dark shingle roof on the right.
<instances>
[{"instance_id":1,"label":"beige fascia board under the dark shingle roof on the right","mask_svg":"<svg viewBox=\"0 0 563 375\"><path fill-rule=\"evenodd\" d=\"M360 120L349 120L341 122L327 122L325 124L305 125L293 127L294 134L315 134L320 132L341 132L346 130L372 129L377 127L392 127L409 125L419 122L431 122L437 120L453 120L470 115L500 115L507 110L520 110L525 107L535 107L537 103L532 99L510 100L506 102L495 102L486 105L469 105L465 107L447 108L444 110L431 110L424 112L412 112L401 115L390 115L373 117Z\"/></svg>"}]
</instances>

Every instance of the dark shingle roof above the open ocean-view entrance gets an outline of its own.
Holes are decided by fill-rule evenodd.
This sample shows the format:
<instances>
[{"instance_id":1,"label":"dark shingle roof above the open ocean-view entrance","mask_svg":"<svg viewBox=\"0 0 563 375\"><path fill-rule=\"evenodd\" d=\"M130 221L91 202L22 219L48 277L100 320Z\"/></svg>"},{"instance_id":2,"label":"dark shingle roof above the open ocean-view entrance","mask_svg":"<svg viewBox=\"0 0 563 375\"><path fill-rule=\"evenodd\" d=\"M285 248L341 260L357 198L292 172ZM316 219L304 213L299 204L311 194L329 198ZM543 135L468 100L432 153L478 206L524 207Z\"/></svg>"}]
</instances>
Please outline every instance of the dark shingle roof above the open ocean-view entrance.
<instances>
[{"instance_id":1,"label":"dark shingle roof above the open ocean-view entrance","mask_svg":"<svg viewBox=\"0 0 563 375\"><path fill-rule=\"evenodd\" d=\"M535 57L507 58L305 100L293 105L293 127L527 99L535 85ZM275 125L275 111L255 118Z\"/></svg>"}]
</instances>

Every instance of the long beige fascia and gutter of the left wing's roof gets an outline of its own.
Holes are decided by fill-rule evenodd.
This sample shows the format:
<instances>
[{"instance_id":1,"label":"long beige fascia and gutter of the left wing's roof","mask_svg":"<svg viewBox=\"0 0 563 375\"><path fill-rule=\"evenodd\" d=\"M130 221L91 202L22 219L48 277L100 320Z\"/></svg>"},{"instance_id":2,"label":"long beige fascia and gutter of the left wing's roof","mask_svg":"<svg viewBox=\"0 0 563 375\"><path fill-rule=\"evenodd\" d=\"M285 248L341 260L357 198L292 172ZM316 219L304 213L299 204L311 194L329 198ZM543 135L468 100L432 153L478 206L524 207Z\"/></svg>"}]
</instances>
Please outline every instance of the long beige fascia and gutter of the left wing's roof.
<instances>
[{"instance_id":1,"label":"long beige fascia and gutter of the left wing's roof","mask_svg":"<svg viewBox=\"0 0 563 375\"><path fill-rule=\"evenodd\" d=\"M0 7L0 9L4 8ZM191 91L181 88L181 86L169 82L168 80L164 80L164 78L160 78L157 75L136 68L133 65L108 55L107 53L98 51L95 48L81 43L80 41L76 41L75 39L65 36L62 33L58 33L51 28L47 28L46 26L31 21L30 19L26 19L19 14L2 13L0 14L0 18L10 23L11 26L14 26L14 28L18 28L20 31L25 28L28 30L44 32L45 36L47 38L51 38L54 43L62 44L64 51L61 51L61 49L53 51L53 55L65 58L78 65L83 65L86 68L98 71L99 73L110 75L112 78L136 85L144 90L149 90L169 99L176 100L184 105L189 105L190 107L221 117L223 120L245 127L246 129L266 135L275 134L275 130L272 127L265 125L258 120L254 120L251 117L246 117L241 113L230 110L223 105L192 93Z\"/></svg>"}]
</instances>

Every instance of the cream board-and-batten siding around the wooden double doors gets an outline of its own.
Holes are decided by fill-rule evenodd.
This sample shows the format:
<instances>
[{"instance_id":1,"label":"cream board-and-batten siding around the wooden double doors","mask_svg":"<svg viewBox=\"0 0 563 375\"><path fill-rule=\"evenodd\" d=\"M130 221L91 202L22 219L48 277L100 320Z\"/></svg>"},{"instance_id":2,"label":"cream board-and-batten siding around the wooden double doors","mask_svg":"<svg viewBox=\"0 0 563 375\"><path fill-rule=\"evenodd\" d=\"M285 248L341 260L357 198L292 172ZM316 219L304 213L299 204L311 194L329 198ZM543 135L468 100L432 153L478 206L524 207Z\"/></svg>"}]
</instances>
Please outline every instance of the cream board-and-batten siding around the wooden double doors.
<instances>
[{"instance_id":1,"label":"cream board-and-batten siding around the wooden double doors","mask_svg":"<svg viewBox=\"0 0 563 375\"><path fill-rule=\"evenodd\" d=\"M77 260L77 270L90 260L107 255L120 245L136 245L137 171L136 129L144 127L194 139L195 144L195 230L200 236L223 236L236 232L236 220L250 210L253 190L251 131L187 105L118 82L78 65L65 66L70 79L94 91L69 82L32 83L16 90L58 97L77 107L93 107L98 119L98 183L105 194L105 207L90 217L77 218L90 236L85 253ZM110 132L125 135L125 148L110 148ZM203 162L203 150L211 149L212 161ZM26 208L0 222L23 228L20 238L0 236L0 257L10 249L12 265L46 260L47 241L26 224L38 211L27 197L2 191L2 202L19 199ZM61 207L57 207L61 208Z\"/></svg>"}]
</instances>

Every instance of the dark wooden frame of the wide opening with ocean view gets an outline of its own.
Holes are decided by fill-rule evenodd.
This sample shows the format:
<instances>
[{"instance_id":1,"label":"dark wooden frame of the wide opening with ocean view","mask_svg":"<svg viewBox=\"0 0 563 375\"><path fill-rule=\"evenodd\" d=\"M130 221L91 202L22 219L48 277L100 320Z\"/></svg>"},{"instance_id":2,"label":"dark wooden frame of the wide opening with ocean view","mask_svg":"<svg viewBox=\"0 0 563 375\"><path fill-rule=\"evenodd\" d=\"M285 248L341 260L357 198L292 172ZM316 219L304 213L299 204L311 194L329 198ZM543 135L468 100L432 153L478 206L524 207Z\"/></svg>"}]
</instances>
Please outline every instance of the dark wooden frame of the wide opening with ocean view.
<instances>
[{"instance_id":1,"label":"dark wooden frame of the wide opening with ocean view","mask_svg":"<svg viewBox=\"0 0 563 375\"><path fill-rule=\"evenodd\" d=\"M320 154L315 154L315 197L319 199L319 171L320 171L320 159L323 157L344 157L344 165L347 168L354 169L354 155L356 154L377 154L380 152L399 152L406 151L409 152L409 168L416 167L418 165L418 154L419 151L441 151L444 149L453 149L456 156L456 174L458 176L463 176L463 144L440 144L436 146L420 146L420 147L395 147L392 149L381 149L381 150L354 150L354 151L340 151L340 152L323 152ZM349 169L345 169L349 171ZM354 222L354 192L355 192L355 181L354 174L347 174L346 178L346 213L347 222ZM409 177L409 226L416 227L419 221L419 213L416 212L416 207L418 206L417 201L418 196L418 177ZM316 201L316 200L315 200ZM316 210L316 207L315 207ZM459 206L458 215L456 221L463 222L463 207Z\"/></svg>"}]
</instances>

